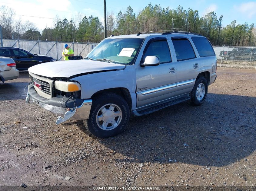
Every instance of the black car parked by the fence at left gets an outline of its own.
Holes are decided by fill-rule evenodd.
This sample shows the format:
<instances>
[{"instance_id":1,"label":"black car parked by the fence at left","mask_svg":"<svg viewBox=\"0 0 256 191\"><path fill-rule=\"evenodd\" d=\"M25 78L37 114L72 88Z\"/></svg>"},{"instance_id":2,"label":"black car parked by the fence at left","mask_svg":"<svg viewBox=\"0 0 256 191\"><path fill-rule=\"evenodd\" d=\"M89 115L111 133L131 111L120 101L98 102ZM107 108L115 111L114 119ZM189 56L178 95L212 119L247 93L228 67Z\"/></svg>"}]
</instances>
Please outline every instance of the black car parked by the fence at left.
<instances>
[{"instance_id":1,"label":"black car parked by the fence at left","mask_svg":"<svg viewBox=\"0 0 256 191\"><path fill-rule=\"evenodd\" d=\"M0 47L0 56L14 59L18 70L28 70L29 67L37 64L57 61L50 56L32 54L15 47Z\"/></svg>"}]
</instances>

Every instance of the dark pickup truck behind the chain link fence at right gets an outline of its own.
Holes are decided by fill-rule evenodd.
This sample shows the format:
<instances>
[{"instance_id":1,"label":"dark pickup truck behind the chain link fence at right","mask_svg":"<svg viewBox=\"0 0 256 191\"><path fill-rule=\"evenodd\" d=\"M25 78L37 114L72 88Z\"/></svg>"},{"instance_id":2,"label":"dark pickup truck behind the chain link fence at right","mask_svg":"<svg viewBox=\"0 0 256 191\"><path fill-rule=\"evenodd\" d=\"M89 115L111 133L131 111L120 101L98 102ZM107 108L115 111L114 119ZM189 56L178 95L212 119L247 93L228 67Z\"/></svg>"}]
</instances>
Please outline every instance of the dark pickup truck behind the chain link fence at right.
<instances>
[{"instance_id":1,"label":"dark pickup truck behind the chain link fence at right","mask_svg":"<svg viewBox=\"0 0 256 191\"><path fill-rule=\"evenodd\" d=\"M256 48L236 47L228 51L221 51L220 57L228 60L254 60L256 61Z\"/></svg>"}]
</instances>

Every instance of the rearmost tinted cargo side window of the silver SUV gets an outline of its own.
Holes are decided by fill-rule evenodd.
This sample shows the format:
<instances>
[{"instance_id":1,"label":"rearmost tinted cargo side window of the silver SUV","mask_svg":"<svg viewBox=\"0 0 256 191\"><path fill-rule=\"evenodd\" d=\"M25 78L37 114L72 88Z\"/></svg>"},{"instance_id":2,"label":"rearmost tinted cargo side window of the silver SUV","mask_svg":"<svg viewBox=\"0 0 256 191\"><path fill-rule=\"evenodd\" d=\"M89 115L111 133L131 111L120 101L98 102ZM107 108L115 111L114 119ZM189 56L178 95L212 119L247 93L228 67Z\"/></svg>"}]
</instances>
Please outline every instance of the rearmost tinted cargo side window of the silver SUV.
<instances>
[{"instance_id":1,"label":"rearmost tinted cargo side window of the silver SUV","mask_svg":"<svg viewBox=\"0 0 256 191\"><path fill-rule=\"evenodd\" d=\"M207 38L204 37L191 37L199 56L215 56L213 48Z\"/></svg>"}]
</instances>

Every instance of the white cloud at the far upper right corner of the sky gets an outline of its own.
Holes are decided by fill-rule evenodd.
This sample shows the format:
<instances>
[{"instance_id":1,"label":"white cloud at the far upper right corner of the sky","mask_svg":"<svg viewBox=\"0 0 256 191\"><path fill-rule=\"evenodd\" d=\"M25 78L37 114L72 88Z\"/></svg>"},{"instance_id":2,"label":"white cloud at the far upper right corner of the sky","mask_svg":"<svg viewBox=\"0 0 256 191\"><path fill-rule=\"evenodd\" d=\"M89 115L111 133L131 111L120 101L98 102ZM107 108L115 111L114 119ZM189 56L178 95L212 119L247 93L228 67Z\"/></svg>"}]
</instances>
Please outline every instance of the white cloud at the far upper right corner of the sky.
<instances>
[{"instance_id":1,"label":"white cloud at the far upper right corner of the sky","mask_svg":"<svg viewBox=\"0 0 256 191\"><path fill-rule=\"evenodd\" d=\"M234 5L234 9L249 19L256 16L256 2L247 2L241 3L240 5Z\"/></svg>"}]
</instances>

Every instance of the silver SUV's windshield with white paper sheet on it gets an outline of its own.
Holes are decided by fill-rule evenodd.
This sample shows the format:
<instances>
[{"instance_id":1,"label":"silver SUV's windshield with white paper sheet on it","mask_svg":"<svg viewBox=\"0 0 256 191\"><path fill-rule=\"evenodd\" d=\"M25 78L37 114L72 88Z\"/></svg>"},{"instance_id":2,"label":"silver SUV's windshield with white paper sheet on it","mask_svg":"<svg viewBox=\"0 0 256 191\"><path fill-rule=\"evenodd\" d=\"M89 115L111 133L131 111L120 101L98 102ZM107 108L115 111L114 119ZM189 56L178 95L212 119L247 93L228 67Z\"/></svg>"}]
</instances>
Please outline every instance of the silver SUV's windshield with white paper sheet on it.
<instances>
[{"instance_id":1,"label":"silver SUV's windshield with white paper sheet on it","mask_svg":"<svg viewBox=\"0 0 256 191\"><path fill-rule=\"evenodd\" d=\"M86 56L88 59L108 61L118 64L131 65L138 53L143 39L116 38L102 40Z\"/></svg>"}]
</instances>

